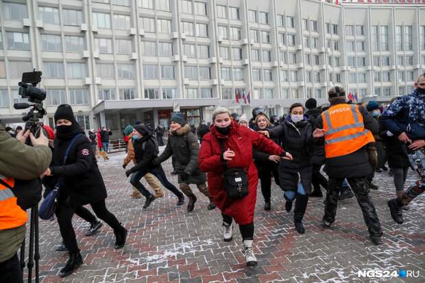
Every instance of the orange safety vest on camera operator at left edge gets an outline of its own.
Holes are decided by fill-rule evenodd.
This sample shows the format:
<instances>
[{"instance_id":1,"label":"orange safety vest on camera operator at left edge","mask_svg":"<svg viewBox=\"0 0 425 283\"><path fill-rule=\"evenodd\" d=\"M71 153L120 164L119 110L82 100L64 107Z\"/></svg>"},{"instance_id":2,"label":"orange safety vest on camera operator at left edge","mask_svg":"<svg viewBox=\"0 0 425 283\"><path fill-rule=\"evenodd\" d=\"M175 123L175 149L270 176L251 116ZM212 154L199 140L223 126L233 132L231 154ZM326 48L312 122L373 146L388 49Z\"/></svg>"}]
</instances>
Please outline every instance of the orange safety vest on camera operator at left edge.
<instances>
[{"instance_id":1,"label":"orange safety vest on camera operator at left edge","mask_svg":"<svg viewBox=\"0 0 425 283\"><path fill-rule=\"evenodd\" d=\"M3 182L14 187L14 179L0 175ZM18 199L10 188L0 183L0 230L12 229L27 222L27 212L16 203Z\"/></svg>"}]
</instances>

